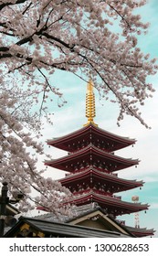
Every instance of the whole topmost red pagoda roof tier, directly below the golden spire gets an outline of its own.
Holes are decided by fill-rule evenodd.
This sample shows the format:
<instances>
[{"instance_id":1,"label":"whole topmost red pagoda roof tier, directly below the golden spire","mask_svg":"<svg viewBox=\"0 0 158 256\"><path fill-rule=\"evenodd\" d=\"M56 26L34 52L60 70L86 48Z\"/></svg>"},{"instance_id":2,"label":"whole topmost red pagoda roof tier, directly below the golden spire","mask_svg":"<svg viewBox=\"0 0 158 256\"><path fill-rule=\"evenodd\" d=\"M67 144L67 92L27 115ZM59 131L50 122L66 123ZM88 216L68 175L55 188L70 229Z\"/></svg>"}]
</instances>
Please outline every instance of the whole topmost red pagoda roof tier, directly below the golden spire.
<instances>
[{"instance_id":1,"label":"whole topmost red pagoda roof tier, directly below the golden spire","mask_svg":"<svg viewBox=\"0 0 158 256\"><path fill-rule=\"evenodd\" d=\"M135 142L134 139L102 130L92 123L73 133L47 140L47 144L68 152L74 152L90 143L99 144L100 147L104 147L111 152L135 144Z\"/></svg>"}]
</instances>

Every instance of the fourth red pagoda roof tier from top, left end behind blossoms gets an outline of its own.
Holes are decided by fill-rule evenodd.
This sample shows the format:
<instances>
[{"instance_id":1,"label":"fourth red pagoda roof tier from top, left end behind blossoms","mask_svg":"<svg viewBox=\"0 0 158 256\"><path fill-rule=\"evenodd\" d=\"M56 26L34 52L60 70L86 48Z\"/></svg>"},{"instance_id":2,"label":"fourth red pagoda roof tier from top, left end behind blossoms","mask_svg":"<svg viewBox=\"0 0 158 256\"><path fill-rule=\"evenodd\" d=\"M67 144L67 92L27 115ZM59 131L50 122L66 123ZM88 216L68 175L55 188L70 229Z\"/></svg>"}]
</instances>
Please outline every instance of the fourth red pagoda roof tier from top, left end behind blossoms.
<instances>
[{"instance_id":1,"label":"fourth red pagoda roof tier from top, left end behind blossoms","mask_svg":"<svg viewBox=\"0 0 158 256\"><path fill-rule=\"evenodd\" d=\"M92 189L85 191L84 193L76 193L72 200L68 200L68 203L75 204L77 206L85 205L91 202L99 204L100 208L106 209L108 214L113 216L130 214L141 210L147 210L148 204L142 203L129 203L122 201L119 197L105 196L102 193L98 193Z\"/></svg>"}]
</instances>

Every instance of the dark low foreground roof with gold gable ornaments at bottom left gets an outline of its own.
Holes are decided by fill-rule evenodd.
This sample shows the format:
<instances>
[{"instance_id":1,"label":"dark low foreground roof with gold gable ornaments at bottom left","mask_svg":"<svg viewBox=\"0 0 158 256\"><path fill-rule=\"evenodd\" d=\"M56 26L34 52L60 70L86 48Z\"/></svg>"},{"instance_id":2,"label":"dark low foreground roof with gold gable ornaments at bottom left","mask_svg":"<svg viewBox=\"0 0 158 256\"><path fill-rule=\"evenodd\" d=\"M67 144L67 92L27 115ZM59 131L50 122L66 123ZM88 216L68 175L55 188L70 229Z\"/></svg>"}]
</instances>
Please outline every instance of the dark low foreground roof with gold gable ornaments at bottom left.
<instances>
[{"instance_id":1,"label":"dark low foreground roof with gold gable ornaments at bottom left","mask_svg":"<svg viewBox=\"0 0 158 256\"><path fill-rule=\"evenodd\" d=\"M116 231L92 229L68 223L23 217L19 219L12 229L5 233L4 237L129 238L131 236Z\"/></svg>"}]
</instances>

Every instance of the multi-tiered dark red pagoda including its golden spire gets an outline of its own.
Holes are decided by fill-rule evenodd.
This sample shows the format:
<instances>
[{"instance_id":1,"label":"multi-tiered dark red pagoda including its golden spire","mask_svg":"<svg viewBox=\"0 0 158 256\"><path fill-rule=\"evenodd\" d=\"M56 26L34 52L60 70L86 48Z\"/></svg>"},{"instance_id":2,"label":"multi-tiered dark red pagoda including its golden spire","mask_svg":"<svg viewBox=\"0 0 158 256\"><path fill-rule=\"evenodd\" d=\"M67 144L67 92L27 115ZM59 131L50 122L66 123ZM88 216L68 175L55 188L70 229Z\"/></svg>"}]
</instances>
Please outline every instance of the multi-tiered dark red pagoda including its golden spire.
<instances>
[{"instance_id":1,"label":"multi-tiered dark red pagoda including its golden spire","mask_svg":"<svg viewBox=\"0 0 158 256\"><path fill-rule=\"evenodd\" d=\"M143 186L142 180L127 180L118 176L122 169L139 164L138 159L117 155L117 151L136 141L100 129L94 123L95 115L95 95L90 80L86 93L88 122L73 133L47 140L48 145L65 150L68 155L47 161L45 165L66 172L59 182L68 187L74 196L68 203L76 206L97 204L114 219L123 214L147 210L148 204L124 201L116 195Z\"/></svg>"}]
</instances>

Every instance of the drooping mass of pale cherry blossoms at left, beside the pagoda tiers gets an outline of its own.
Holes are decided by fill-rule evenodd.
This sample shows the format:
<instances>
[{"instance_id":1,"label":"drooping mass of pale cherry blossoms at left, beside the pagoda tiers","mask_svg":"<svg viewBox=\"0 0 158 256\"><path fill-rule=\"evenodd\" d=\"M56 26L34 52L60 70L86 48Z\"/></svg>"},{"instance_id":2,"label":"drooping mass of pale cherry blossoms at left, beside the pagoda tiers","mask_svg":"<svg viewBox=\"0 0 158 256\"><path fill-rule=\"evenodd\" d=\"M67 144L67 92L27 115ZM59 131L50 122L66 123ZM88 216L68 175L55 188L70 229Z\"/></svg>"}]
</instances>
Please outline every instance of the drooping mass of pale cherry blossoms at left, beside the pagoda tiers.
<instances>
[{"instance_id":1,"label":"drooping mass of pale cherry blossoms at left, beside the pagoda tiers","mask_svg":"<svg viewBox=\"0 0 158 256\"><path fill-rule=\"evenodd\" d=\"M69 190L46 178L46 168L37 169L37 156L44 150L39 143L41 122L36 112L30 112L36 94L37 90L20 90L13 81L0 85L0 181L8 183L10 197L24 196L17 205L20 211L38 206L58 216L69 214L69 206L61 204Z\"/></svg>"}]
</instances>

